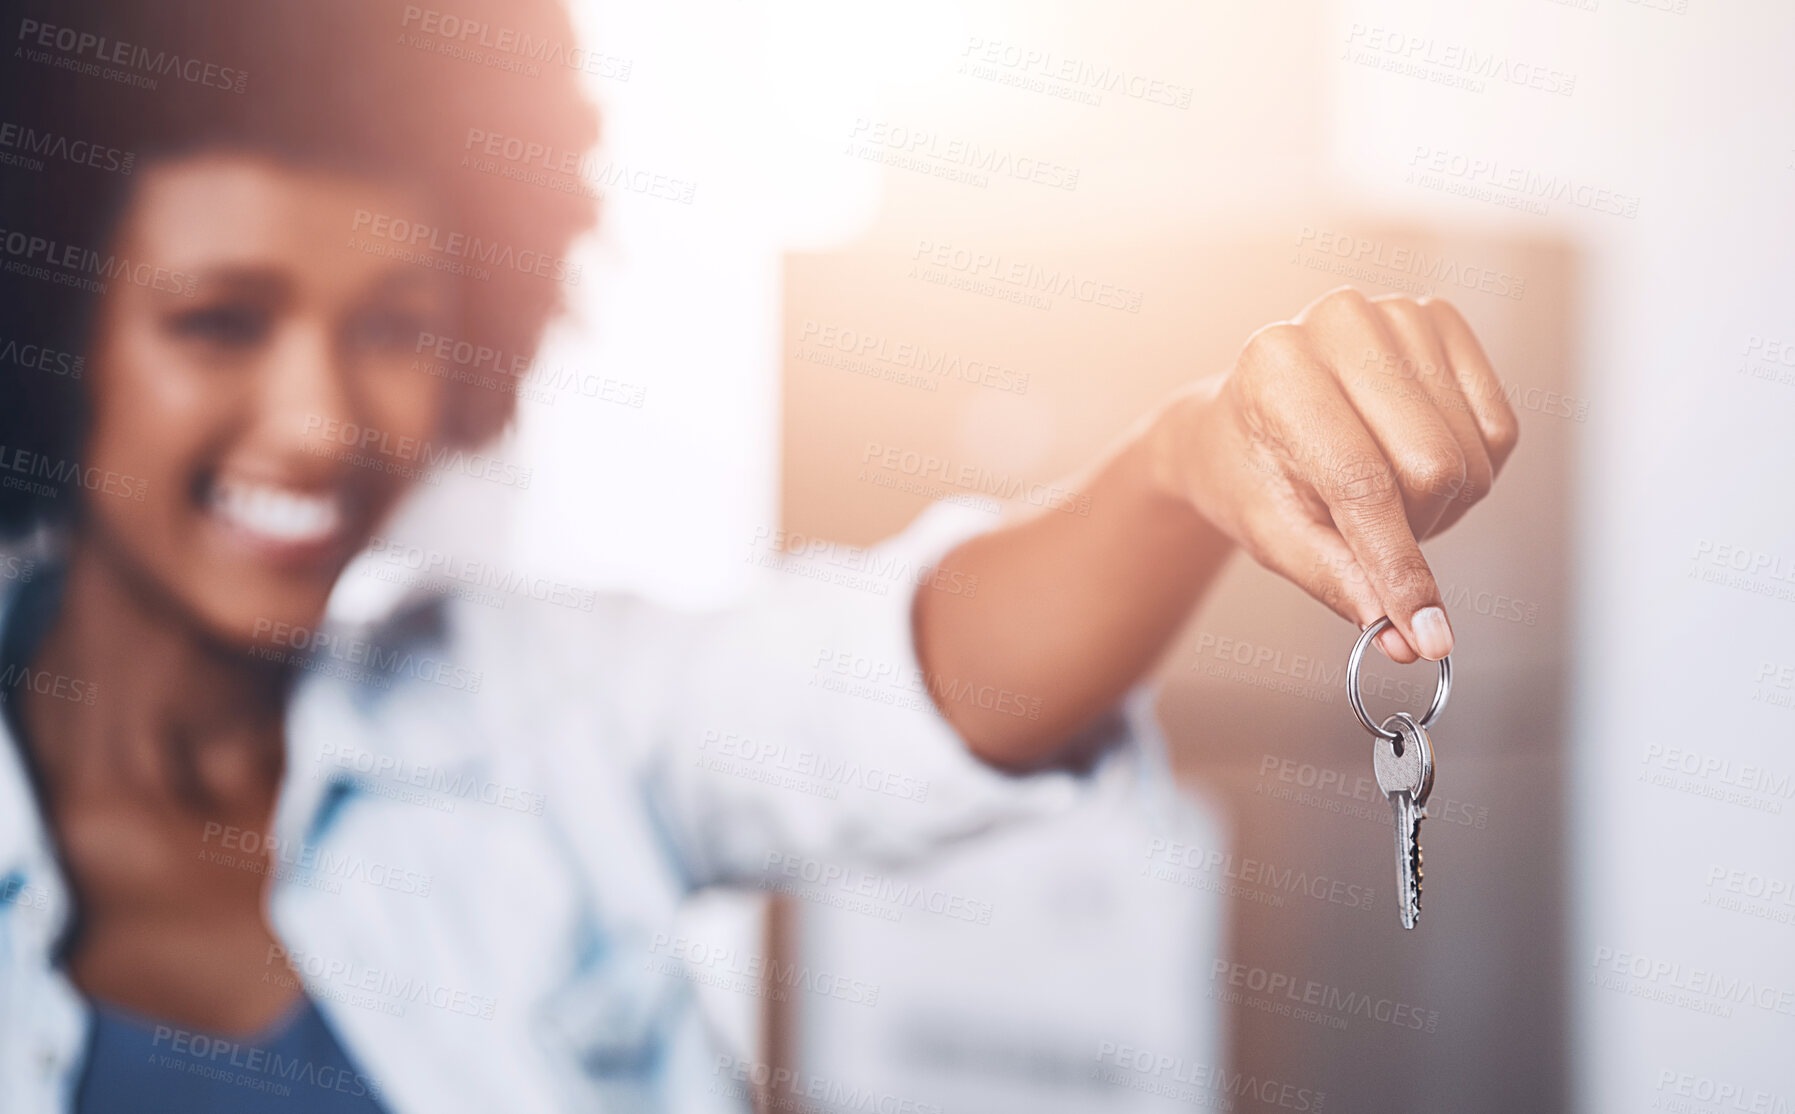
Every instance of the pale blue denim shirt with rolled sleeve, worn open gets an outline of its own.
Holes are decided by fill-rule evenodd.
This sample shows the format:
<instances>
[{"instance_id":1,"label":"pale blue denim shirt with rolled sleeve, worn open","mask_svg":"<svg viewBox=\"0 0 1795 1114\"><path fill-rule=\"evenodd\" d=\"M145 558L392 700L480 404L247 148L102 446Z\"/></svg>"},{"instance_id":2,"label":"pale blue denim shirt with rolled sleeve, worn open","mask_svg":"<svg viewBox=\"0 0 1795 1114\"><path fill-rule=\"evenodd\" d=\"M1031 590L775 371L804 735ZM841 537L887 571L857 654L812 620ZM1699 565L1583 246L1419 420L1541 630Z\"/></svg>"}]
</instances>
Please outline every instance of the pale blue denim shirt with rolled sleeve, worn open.
<instances>
[{"instance_id":1,"label":"pale blue denim shirt with rolled sleeve, worn open","mask_svg":"<svg viewBox=\"0 0 1795 1114\"><path fill-rule=\"evenodd\" d=\"M318 1003L395 1114L745 1110L743 1064L655 944L693 890L851 902L932 850L1142 770L1145 691L1104 725L1127 744L1082 775L1000 773L939 714L930 692L1032 707L915 658L917 583L976 590L928 569L991 522L937 506L845 561L768 558L786 565L777 583L709 615L433 594L368 624L267 624L257 653L300 676L271 831L210 825L192 852L275 874L280 944L262 978ZM93 698L16 669L5 694L22 685ZM0 739L5 1114L72 1107L92 1019L56 962L68 918L18 743ZM293 1085L167 1030L171 1066Z\"/></svg>"}]
</instances>

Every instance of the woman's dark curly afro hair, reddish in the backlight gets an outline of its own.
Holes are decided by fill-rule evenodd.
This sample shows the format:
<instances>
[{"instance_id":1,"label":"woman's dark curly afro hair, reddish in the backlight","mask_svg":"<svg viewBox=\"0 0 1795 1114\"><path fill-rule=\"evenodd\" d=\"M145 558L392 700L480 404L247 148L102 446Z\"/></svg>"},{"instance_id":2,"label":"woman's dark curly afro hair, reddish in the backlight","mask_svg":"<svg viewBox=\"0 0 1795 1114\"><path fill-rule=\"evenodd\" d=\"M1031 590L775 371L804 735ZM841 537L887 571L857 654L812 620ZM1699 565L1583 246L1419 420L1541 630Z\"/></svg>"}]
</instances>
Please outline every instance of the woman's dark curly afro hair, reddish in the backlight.
<instances>
[{"instance_id":1,"label":"woman's dark curly afro hair, reddish in the backlight","mask_svg":"<svg viewBox=\"0 0 1795 1114\"><path fill-rule=\"evenodd\" d=\"M79 461L99 296L54 282L41 244L104 253L147 163L246 151L400 178L467 237L551 258L596 221L592 190L494 172L508 167L470 142L477 129L564 158L598 142L580 81L610 59L574 38L560 0L4 0L0 13L7 459ZM460 300L460 339L494 352L528 359L562 307L562 285L528 267L458 282L477 285ZM513 402L458 384L443 434L490 436ZM59 486L54 499L0 486L0 535L66 513L79 484Z\"/></svg>"}]
</instances>

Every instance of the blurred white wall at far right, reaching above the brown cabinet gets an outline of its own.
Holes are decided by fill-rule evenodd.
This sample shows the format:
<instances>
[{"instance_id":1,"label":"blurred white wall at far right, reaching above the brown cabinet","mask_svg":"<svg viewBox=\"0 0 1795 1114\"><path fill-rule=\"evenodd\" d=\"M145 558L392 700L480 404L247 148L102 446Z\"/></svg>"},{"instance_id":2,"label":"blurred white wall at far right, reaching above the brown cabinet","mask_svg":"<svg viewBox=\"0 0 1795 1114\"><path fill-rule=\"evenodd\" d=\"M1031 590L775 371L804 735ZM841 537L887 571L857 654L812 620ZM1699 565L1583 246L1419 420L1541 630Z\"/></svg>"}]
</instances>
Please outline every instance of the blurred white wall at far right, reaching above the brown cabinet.
<instances>
[{"instance_id":1,"label":"blurred white wall at far right, reaching above the brown cabinet","mask_svg":"<svg viewBox=\"0 0 1795 1114\"><path fill-rule=\"evenodd\" d=\"M1572 766L1540 788L1572 809L1578 1109L1795 1109L1795 366L1747 353L1795 339L1795 7L1388 0L1337 20L1343 43L1379 25L1576 74L1569 97L1474 97L1343 68L1332 135L1368 205L1585 253ZM1639 213L1416 190L1418 136Z\"/></svg>"}]
</instances>

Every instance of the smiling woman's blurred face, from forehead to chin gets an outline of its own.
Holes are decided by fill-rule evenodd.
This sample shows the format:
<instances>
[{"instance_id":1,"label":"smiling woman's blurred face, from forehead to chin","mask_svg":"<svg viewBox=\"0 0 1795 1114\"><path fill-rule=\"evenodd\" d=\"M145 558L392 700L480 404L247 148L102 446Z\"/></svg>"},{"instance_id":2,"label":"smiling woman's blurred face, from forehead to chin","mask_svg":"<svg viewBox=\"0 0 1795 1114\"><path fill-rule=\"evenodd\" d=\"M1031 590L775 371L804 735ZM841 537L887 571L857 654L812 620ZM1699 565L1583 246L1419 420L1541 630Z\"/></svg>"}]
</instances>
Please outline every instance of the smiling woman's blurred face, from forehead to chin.
<instances>
[{"instance_id":1,"label":"smiling woman's blurred face, from forehead to chin","mask_svg":"<svg viewBox=\"0 0 1795 1114\"><path fill-rule=\"evenodd\" d=\"M359 210L427 219L377 179L196 156L142 172L113 244L192 289L101 296L81 461L142 499L86 492L79 544L232 644L318 622L420 459L391 447L440 425L415 346L452 287L352 248Z\"/></svg>"}]
</instances>

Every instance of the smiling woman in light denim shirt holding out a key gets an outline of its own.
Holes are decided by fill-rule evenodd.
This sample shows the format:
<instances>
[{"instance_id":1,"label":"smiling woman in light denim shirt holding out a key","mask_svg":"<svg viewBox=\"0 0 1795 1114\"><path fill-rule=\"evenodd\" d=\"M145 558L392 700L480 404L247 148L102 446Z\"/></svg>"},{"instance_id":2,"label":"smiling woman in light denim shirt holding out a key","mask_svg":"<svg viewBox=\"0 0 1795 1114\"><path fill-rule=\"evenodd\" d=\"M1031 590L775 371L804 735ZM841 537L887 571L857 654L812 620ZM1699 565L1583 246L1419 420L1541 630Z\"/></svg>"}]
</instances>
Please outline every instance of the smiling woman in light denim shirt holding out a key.
<instances>
[{"instance_id":1,"label":"smiling woman in light denim shirt holding out a key","mask_svg":"<svg viewBox=\"0 0 1795 1114\"><path fill-rule=\"evenodd\" d=\"M504 423L594 203L508 170L578 165L578 79L619 61L549 0L4 25L0 344L38 355L0 379L0 520L45 567L0 583L0 678L29 678L0 895L32 895L0 901L0 1110L740 1110L763 1073L664 949L696 890L865 906L1127 784L1125 696L1235 545L1388 615L1393 657L1452 649L1418 540L1515 418L1458 310L1348 289L1002 522L944 502L847 579L705 615L418 585L332 622L443 461L526 484L458 447ZM1397 398L1368 352L1441 373ZM601 517L630 479L565 499Z\"/></svg>"}]
</instances>

